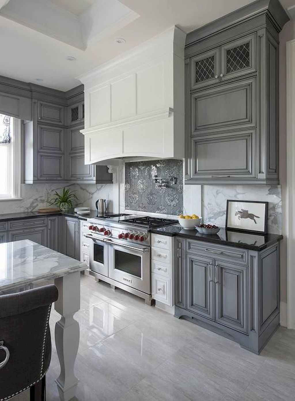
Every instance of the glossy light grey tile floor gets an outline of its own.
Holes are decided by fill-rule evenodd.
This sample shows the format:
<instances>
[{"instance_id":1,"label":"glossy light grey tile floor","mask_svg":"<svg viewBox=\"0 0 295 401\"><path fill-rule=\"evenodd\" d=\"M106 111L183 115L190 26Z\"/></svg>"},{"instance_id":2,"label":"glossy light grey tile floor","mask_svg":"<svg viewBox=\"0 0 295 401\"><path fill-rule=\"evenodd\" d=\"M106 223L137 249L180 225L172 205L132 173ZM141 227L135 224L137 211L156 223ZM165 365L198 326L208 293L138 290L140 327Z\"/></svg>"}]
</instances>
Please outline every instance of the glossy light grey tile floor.
<instances>
[{"instance_id":1,"label":"glossy light grey tile floor","mask_svg":"<svg viewBox=\"0 0 295 401\"><path fill-rule=\"evenodd\" d=\"M75 317L81 331L76 400L295 400L294 330L279 328L258 356L86 275ZM57 320L52 310L51 333ZM58 401L52 337L47 401Z\"/></svg>"}]
</instances>

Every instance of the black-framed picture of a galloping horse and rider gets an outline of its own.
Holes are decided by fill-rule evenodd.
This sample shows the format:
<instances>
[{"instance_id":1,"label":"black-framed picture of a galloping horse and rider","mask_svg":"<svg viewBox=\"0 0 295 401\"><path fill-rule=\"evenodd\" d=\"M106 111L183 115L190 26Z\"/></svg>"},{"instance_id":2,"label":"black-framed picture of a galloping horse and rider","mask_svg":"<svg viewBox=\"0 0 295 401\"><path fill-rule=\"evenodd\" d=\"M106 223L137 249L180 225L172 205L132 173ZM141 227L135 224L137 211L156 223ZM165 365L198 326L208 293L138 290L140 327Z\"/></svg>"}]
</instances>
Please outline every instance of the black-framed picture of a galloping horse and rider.
<instances>
[{"instance_id":1,"label":"black-framed picture of a galloping horse and rider","mask_svg":"<svg viewBox=\"0 0 295 401\"><path fill-rule=\"evenodd\" d=\"M225 228L265 234L268 206L268 202L227 200Z\"/></svg>"}]
</instances>

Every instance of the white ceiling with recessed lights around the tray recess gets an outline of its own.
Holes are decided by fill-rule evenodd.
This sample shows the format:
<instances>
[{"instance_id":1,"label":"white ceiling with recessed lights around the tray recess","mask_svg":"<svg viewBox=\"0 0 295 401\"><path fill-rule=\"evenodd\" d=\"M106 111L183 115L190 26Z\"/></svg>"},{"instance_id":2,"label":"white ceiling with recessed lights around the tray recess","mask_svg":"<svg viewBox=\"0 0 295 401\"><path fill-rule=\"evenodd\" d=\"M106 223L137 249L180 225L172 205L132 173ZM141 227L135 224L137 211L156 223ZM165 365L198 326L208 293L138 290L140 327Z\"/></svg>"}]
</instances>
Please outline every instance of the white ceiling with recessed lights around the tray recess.
<instances>
[{"instance_id":1,"label":"white ceiling with recessed lights around the tray recess","mask_svg":"<svg viewBox=\"0 0 295 401\"><path fill-rule=\"evenodd\" d=\"M22 0L22 2L30 1L32 0ZM50 1L76 16L85 13L89 6L95 5L96 1L101 2L101 0ZM105 4L108 4L107 2L108 0L105 0ZM139 17L123 28L120 23L113 24L108 34L91 43L86 50L77 49L0 15L0 38L2 43L5 43L4 53L2 49L0 75L68 90L79 85L77 76L173 25L190 32L253 0L120 0L120 2L139 14ZM286 6L290 6L294 0L283 0L283 2L287 3ZM116 43L115 39L118 37L125 38L126 43L121 45ZM76 60L68 61L67 56L76 57ZM36 79L43 81L37 82Z\"/></svg>"}]
</instances>

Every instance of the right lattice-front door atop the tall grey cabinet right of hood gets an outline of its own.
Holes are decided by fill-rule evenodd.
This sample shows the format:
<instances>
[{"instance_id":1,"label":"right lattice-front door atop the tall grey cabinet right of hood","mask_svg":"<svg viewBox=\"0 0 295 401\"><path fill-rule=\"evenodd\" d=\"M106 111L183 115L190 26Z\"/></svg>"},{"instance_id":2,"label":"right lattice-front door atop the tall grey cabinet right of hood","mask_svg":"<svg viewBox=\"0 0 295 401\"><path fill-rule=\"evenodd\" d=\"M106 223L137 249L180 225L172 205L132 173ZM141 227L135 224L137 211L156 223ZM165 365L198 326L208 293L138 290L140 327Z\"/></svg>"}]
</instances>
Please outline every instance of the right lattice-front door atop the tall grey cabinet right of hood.
<instances>
[{"instance_id":1,"label":"right lattice-front door atop the tall grey cabinet right of hood","mask_svg":"<svg viewBox=\"0 0 295 401\"><path fill-rule=\"evenodd\" d=\"M256 33L221 47L221 80L256 71Z\"/></svg>"}]
</instances>

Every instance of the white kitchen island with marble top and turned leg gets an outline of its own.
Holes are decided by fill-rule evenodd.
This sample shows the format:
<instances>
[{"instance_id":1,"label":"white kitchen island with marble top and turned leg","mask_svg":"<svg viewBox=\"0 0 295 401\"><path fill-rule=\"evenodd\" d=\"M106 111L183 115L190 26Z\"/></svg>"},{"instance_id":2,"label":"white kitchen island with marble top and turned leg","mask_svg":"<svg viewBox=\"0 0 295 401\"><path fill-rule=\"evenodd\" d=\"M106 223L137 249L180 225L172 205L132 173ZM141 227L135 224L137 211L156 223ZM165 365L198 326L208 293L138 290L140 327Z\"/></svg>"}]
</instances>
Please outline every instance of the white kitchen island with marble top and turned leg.
<instances>
[{"instance_id":1,"label":"white kitchen island with marble top and turned leg","mask_svg":"<svg viewBox=\"0 0 295 401\"><path fill-rule=\"evenodd\" d=\"M78 382L73 366L80 329L73 315L80 309L80 271L87 266L29 240L0 244L0 258L0 295L33 288L44 280L55 280L59 291L55 310L61 314L61 320L55 325L61 365L56 383L60 398L67 401L75 396Z\"/></svg>"}]
</instances>

